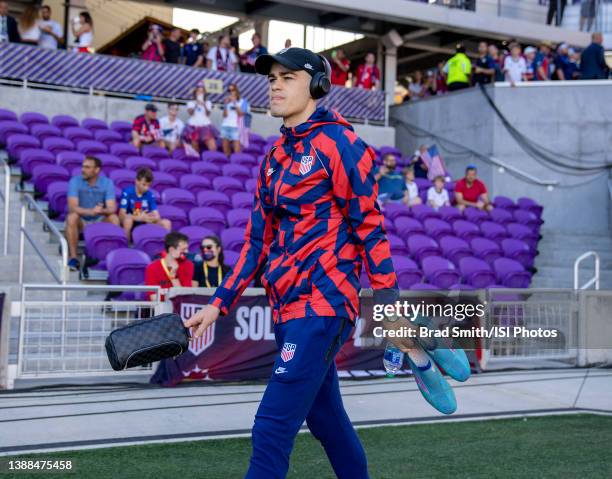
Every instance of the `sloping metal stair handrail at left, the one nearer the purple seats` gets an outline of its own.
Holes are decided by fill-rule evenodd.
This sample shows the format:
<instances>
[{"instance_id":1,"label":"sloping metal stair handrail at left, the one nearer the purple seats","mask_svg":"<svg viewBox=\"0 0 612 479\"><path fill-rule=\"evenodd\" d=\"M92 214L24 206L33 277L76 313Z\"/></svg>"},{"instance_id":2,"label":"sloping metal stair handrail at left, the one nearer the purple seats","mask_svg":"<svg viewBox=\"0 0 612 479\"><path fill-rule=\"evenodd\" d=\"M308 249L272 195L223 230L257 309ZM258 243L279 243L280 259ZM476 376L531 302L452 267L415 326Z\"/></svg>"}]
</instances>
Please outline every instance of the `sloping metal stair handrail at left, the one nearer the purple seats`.
<instances>
[{"instance_id":1,"label":"sloping metal stair handrail at left, the one nearer the purple seats","mask_svg":"<svg viewBox=\"0 0 612 479\"><path fill-rule=\"evenodd\" d=\"M19 224L19 284L23 284L23 268L24 268L24 260L25 260L25 240L27 239L30 245L36 251L36 254L40 257L42 262L45 264L55 281L59 284L65 285L68 281L68 242L64 235L62 235L53 222L49 219L49 217L45 214L45 212L38 206L38 203L34 201L32 195L26 194L24 195L26 200L26 204L21 206L21 221ZM27 209L33 209L38 214L42 216L43 223L49 228L50 233L55 236L60 244L60 250L62 253L62 264L60 268L60 274L58 275L54 268L49 263L49 260L40 250L40 248L36 245L36 242L30 235L30 233L26 230L26 212Z\"/></svg>"}]
</instances>

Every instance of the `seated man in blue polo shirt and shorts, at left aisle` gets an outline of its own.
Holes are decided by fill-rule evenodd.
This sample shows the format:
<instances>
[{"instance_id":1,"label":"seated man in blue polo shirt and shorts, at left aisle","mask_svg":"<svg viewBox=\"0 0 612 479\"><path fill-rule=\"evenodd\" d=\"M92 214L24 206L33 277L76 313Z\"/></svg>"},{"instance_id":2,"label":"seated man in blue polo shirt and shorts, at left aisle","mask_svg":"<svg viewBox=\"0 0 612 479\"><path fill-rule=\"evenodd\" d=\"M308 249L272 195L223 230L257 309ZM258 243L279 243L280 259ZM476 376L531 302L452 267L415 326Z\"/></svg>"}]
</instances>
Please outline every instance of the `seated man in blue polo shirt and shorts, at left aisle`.
<instances>
[{"instance_id":1,"label":"seated man in blue polo shirt and shorts, at left aisle","mask_svg":"<svg viewBox=\"0 0 612 479\"><path fill-rule=\"evenodd\" d=\"M99 158L88 156L83 160L81 176L73 176L68 183L66 240L72 271L80 268L77 243L85 225L105 221L119 226L115 186L110 178L100 174L101 168Z\"/></svg>"}]
</instances>

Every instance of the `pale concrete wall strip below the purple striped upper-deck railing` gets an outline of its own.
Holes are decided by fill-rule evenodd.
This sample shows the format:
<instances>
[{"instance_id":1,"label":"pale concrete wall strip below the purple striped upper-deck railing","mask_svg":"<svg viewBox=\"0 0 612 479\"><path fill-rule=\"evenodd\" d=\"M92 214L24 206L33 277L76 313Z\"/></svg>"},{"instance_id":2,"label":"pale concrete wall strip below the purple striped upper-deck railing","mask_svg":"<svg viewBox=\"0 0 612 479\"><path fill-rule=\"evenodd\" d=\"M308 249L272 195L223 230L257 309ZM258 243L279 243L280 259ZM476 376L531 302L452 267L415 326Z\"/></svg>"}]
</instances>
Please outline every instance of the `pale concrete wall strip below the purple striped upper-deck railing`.
<instances>
[{"instance_id":1,"label":"pale concrete wall strip below the purple striped upper-deck railing","mask_svg":"<svg viewBox=\"0 0 612 479\"><path fill-rule=\"evenodd\" d=\"M115 120L131 121L143 112L145 102L111 98L99 95L82 95L69 92L35 90L31 88L0 86L0 108L9 108L18 114L37 111L49 117L58 114L83 118L100 118L108 123ZM166 106L158 104L159 116L163 116ZM181 109L180 116L186 120L187 111ZM221 110L216 108L212 114L213 123L221 124ZM278 135L281 120L263 113L253 115L253 131L259 135ZM394 145L395 129L392 127L355 124L355 131L367 143L374 146Z\"/></svg>"}]
</instances>

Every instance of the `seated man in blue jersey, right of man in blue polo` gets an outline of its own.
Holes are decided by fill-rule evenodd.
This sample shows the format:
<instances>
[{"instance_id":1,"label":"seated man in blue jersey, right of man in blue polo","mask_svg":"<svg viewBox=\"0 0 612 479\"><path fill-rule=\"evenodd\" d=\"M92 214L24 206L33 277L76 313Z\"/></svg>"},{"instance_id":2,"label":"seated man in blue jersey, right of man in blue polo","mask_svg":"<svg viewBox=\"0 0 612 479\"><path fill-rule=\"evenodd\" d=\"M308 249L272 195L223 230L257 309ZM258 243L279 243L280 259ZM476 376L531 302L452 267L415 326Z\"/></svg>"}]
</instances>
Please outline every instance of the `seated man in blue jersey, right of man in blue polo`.
<instances>
[{"instance_id":1,"label":"seated man in blue jersey, right of man in blue polo","mask_svg":"<svg viewBox=\"0 0 612 479\"><path fill-rule=\"evenodd\" d=\"M128 241L132 239L132 230L144 224L158 224L168 231L172 229L170 220L159 216L155 197L149 191L153 183L153 172L141 168L136 173L133 185L123 189L119 204L119 220L125 230Z\"/></svg>"}]
</instances>

